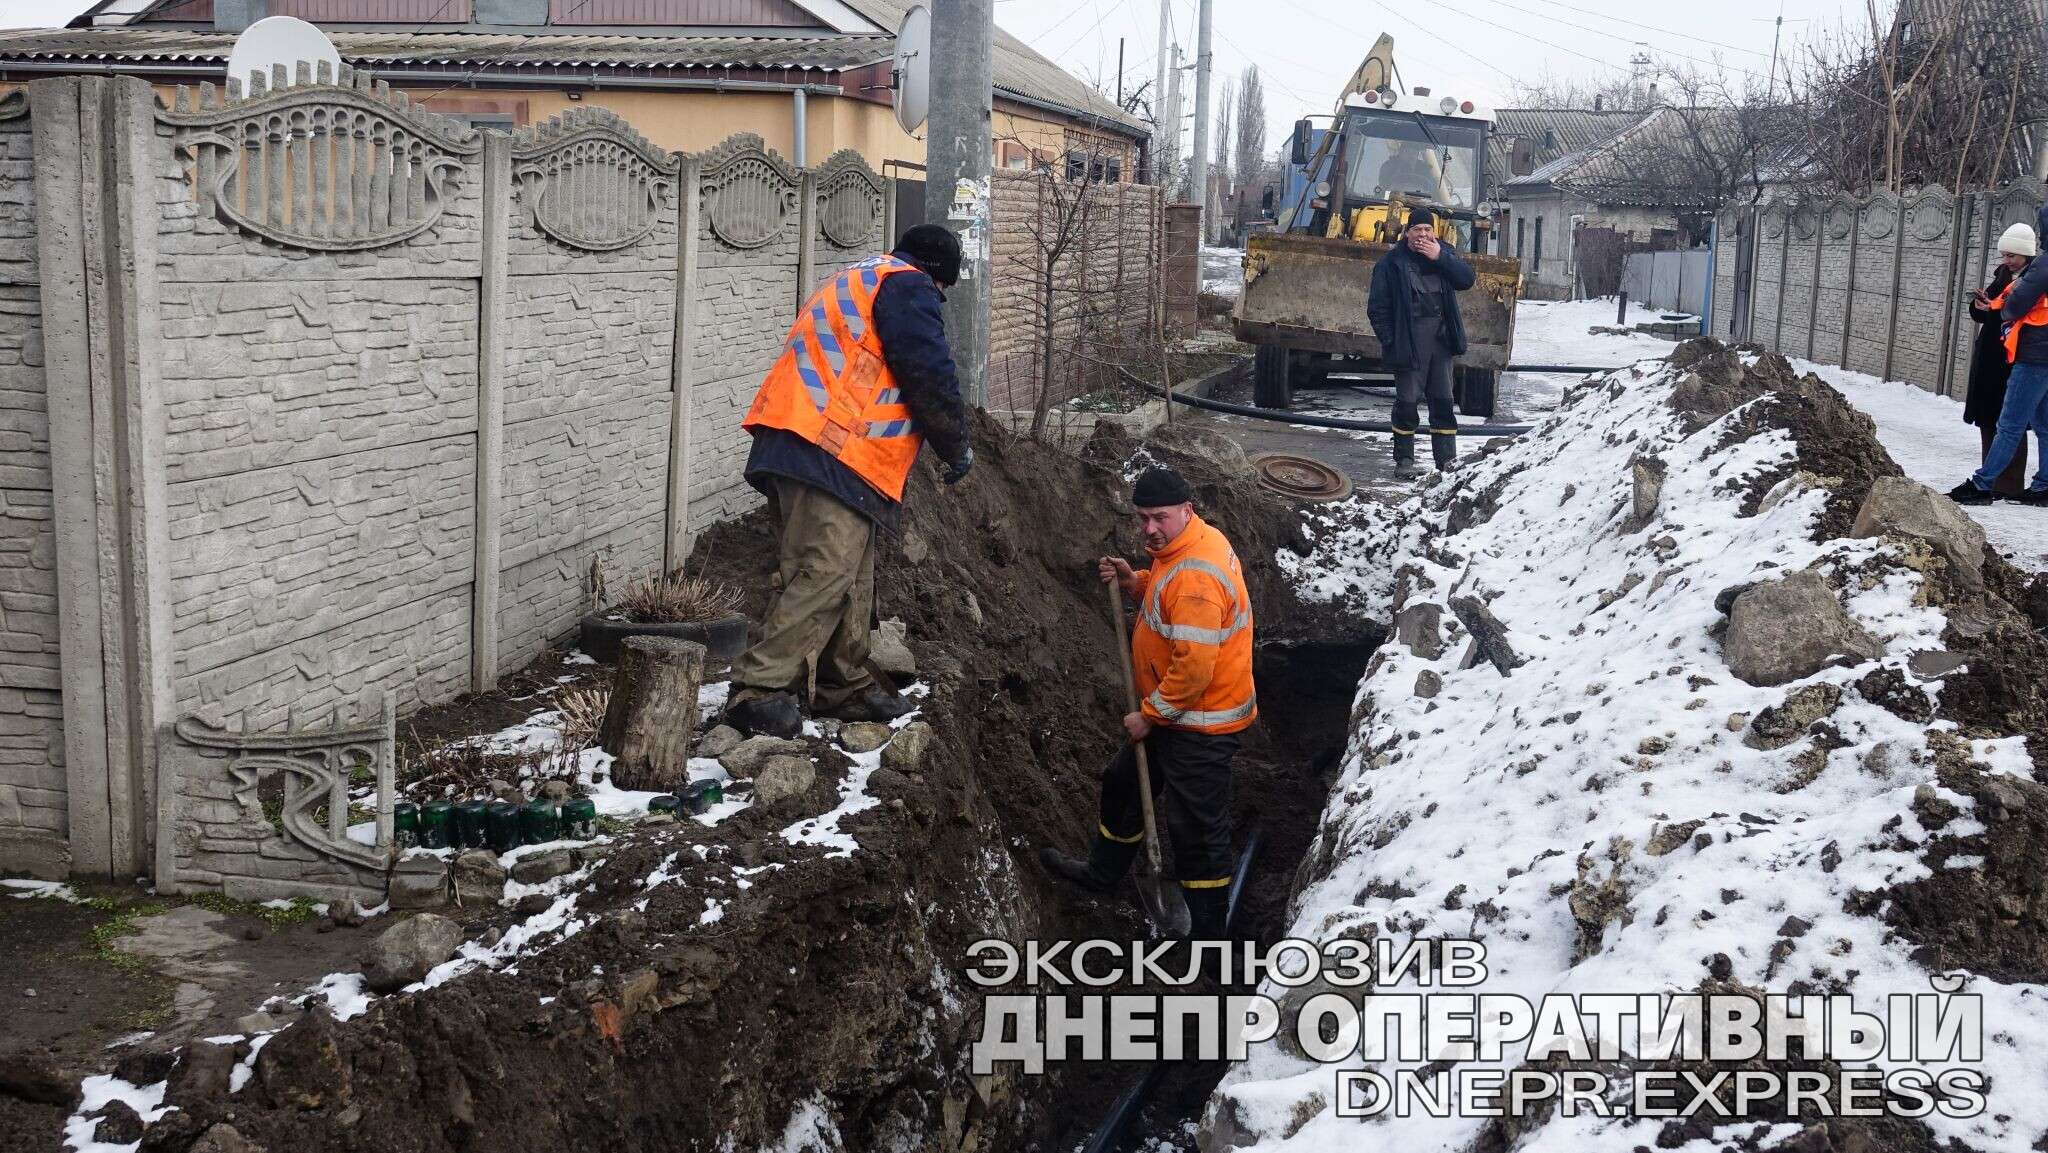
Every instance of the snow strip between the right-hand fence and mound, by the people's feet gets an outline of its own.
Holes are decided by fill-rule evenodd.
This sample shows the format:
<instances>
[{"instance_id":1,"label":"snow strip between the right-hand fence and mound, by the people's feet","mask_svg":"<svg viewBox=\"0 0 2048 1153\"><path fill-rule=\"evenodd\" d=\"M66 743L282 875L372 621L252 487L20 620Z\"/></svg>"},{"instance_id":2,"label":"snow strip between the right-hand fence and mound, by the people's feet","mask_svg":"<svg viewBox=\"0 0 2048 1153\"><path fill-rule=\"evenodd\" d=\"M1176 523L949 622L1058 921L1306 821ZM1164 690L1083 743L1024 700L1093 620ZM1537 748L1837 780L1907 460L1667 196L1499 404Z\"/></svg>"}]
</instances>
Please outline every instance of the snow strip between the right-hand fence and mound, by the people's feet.
<instances>
[{"instance_id":1,"label":"snow strip between the right-hand fence and mound, by the people's feet","mask_svg":"<svg viewBox=\"0 0 2048 1153\"><path fill-rule=\"evenodd\" d=\"M1974 424L1962 422L1962 403L1909 385L1880 381L1835 365L1792 360L1800 373L1817 373L1878 422L1878 442L1915 481L1948 492L1978 465L1982 444ZM2040 461L2040 438L2028 453L2028 479ZM1968 506L1964 512L1985 526L1985 539L2005 559L2032 571L2048 571L2048 510L1999 502Z\"/></svg>"}]
</instances>

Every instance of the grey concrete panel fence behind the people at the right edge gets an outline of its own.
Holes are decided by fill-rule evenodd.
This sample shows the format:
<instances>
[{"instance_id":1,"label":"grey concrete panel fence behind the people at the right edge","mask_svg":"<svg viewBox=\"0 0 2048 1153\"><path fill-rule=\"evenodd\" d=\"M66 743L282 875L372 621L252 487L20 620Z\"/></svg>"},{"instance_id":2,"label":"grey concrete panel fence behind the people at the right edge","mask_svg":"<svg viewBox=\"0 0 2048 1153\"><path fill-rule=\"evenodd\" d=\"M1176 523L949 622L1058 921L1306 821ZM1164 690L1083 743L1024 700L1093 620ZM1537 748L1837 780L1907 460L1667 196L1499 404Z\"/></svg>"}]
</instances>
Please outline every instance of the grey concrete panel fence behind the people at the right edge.
<instances>
[{"instance_id":1,"label":"grey concrete panel fence behind the people at the right edge","mask_svg":"<svg viewBox=\"0 0 2048 1153\"><path fill-rule=\"evenodd\" d=\"M1720 215L1712 334L1788 356L1962 395L1970 291L1991 279L2011 223L2032 223L2040 184L1991 193L1767 199Z\"/></svg>"}]
</instances>

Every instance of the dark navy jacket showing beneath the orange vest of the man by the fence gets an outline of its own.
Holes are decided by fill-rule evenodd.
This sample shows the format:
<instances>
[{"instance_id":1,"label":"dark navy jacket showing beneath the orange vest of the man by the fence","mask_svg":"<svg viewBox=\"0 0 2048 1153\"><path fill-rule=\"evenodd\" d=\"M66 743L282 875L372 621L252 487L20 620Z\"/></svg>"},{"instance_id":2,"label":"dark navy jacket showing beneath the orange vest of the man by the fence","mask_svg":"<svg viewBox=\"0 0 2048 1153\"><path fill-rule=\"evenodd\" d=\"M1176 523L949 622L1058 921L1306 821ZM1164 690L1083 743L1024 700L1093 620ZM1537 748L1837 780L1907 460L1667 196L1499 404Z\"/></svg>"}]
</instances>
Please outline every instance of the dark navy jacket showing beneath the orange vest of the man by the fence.
<instances>
[{"instance_id":1,"label":"dark navy jacket showing beneath the orange vest of the man by the fence","mask_svg":"<svg viewBox=\"0 0 2048 1153\"><path fill-rule=\"evenodd\" d=\"M918 264L901 252L895 256ZM950 465L967 451L967 408L961 403L961 379L940 315L944 299L938 283L922 268L885 279L874 293L874 336L897 389L903 391L911 422L938 459ZM860 479L838 457L784 428L752 432L754 451L748 453L745 467L750 485L772 494L772 477L788 477L831 494L889 532L897 530L903 506Z\"/></svg>"}]
</instances>

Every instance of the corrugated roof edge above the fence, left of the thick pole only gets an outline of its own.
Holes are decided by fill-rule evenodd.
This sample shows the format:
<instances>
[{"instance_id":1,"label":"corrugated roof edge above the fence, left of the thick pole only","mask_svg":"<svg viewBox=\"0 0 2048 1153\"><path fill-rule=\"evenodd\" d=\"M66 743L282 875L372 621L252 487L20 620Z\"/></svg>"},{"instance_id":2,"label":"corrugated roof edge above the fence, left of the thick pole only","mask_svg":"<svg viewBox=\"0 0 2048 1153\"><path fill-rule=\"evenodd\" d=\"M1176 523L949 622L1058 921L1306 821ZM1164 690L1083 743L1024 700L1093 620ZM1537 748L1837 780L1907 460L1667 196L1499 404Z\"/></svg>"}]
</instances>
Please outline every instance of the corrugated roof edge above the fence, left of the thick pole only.
<instances>
[{"instance_id":1,"label":"corrugated roof edge above the fence, left of the thick pole only","mask_svg":"<svg viewBox=\"0 0 2048 1153\"><path fill-rule=\"evenodd\" d=\"M330 33L348 63L446 68L809 68L838 72L895 53L891 37L602 37L500 33ZM174 29L0 31L8 59L223 63L236 37Z\"/></svg>"}]
</instances>

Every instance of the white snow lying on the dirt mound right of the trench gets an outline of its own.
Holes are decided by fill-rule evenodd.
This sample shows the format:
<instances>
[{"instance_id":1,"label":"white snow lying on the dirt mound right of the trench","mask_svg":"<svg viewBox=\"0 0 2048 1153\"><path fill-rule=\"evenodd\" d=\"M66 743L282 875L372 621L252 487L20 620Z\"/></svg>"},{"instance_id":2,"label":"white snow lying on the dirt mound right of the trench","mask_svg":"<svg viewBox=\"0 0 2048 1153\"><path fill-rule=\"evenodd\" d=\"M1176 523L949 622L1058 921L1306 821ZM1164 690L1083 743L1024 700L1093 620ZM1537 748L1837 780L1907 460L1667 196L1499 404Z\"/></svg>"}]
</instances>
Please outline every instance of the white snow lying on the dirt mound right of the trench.
<instances>
[{"instance_id":1,"label":"white snow lying on the dirt mound right of the trench","mask_svg":"<svg viewBox=\"0 0 2048 1153\"><path fill-rule=\"evenodd\" d=\"M1456 483L1499 485L1499 510L1485 524L1446 535L1448 494L1438 492L1430 502L1438 512L1423 512L1421 526L1319 541L1325 559L1303 565L1296 580L1313 588L1321 565L1409 565L1407 604L1436 604L1452 635L1440 657L1399 639L1374 657L1360 688L1364 721L1309 852L1327 864L1305 874L1286 936L1479 940L1489 975L1460 991L1532 1003L1552 993L1696 991L1714 954L1743 985L1782 993L1798 979L1841 989L1862 1010L1882 1012L1892 993L1929 993L1937 973L1915 963L1882 917L1847 909L1868 907L1851 901L1855 893L1929 874L1919 850L1931 834L1915 815L1915 791L1970 811L1968 799L1942 788L1925 754L1927 729L1954 725L1907 723L1847 688L1831 717L1845 748L1823 752L1808 778L1792 762L1808 741L1747 748L1739 715L1780 704L1802 684L1849 686L1874 666L1755 688L1729 672L1710 635L1724 588L1808 565L1847 573L1890 547L1810 541L1823 494L1792 481L1755 516L1739 516L1739 481L1782 467L1790 438L1765 432L1722 449L1726 422L1686 436L1665 405L1669 391L1661 365L1616 373L1536 434L1475 463ZM1638 453L1665 459L1669 512L1624 532L1628 463ZM1663 541L1661 555L1653 541ZM1348 547L1356 553L1343 555ZM1917 575L1888 571L1845 608L1884 643L1884 668L1939 694L1942 682L1913 676L1907 657L1939 647L1944 618L1915 604ZM1489 602L1528 664L1511 676L1487 661L1460 670L1466 639L1448 608L1454 596ZM1878 745L1888 750L1876 754ZM1968 815L1960 821L1944 836L1980 829ZM1671 825L1679 831L1665 834L1669 852L1651 854L1651 838ZM1622 911L1618 920L1593 911L1587 928L1575 905L1597 909L1604 893ZM1790 917L1810 928L1782 934ZM2048 989L1952 975L1982 997L1976 1069L1989 1075L1989 1108L1974 1118L1935 1112L1927 1124L1937 1141L1982 1153L2038 1149L2048 1133L2040 1092ZM1399 991L1419 991L1413 975L1405 985ZM1286 993L1272 981L1262 991ZM1290 1028L1284 1016L1282 1030ZM1622 1040L1634 1051L1632 1032ZM1509 1042L1499 1061L1456 1065L1509 1069L1524 1055ZM1219 1085L1210 1124L1229 1118L1239 1145L1264 1151L1473 1149L1487 1124L1481 1102L1466 1100L1452 1116L1335 1116L1337 1069L1395 1075L1423 1063L1399 1055L1368 1063L1354 1053L1319 1065L1298 1049L1260 1044ZM1911 1061L1880 1055L1849 1065ZM1659 1145L1659 1124L1552 1116L1513 1147L1630 1153Z\"/></svg>"}]
</instances>

